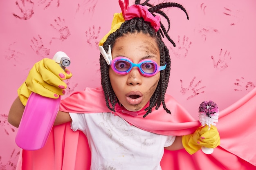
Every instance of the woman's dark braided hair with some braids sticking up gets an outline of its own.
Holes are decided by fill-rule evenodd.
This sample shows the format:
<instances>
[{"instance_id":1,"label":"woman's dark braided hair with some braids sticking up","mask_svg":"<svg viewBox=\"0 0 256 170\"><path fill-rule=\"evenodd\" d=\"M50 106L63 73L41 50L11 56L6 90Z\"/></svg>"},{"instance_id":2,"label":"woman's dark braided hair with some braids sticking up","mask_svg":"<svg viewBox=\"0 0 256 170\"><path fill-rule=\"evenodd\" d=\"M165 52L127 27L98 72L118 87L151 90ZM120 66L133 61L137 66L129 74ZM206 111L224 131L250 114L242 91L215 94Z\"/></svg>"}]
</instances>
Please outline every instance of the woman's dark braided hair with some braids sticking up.
<instances>
[{"instance_id":1,"label":"woman's dark braided hair with some braids sticking up","mask_svg":"<svg viewBox=\"0 0 256 170\"><path fill-rule=\"evenodd\" d=\"M140 4L140 0L135 0L135 4L140 4L144 6L150 7L148 11L155 16L154 13L158 13L162 15L168 22L168 30L166 31L164 25L160 22L161 28L155 32L153 27L150 25L149 22L145 22L143 18L132 18L131 20L125 21L123 24L121 24L120 28L117 29L117 31L110 34L103 44L103 48L108 51L108 45L114 46L117 38L121 36L125 36L128 33L144 33L146 35L149 35L155 41L157 42L159 51L160 51L160 65L164 66L166 64L166 69L160 71L160 79L157 85L157 88L155 92L153 93L152 97L149 101L149 106L145 109L147 112L143 117L146 117L149 113L152 112L152 108L155 107L157 110L161 104L163 105L164 110L166 110L167 113L171 114L171 111L166 108L165 102L164 102L164 96L167 90L169 77L170 77L170 71L171 71L171 59L169 55L169 50L167 49L166 45L162 41L162 38L164 36L170 41L173 46L175 46L175 43L169 35L167 34L170 29L170 20L168 16L163 12L160 11L160 9L166 8L166 7L178 7L182 9L186 13L187 19L189 19L189 16L182 7L182 5L177 3L161 3L153 6L152 4L148 3L149 0L146 0L144 3ZM112 89L112 86L110 84L110 78L109 78L109 65L106 63L105 59L102 55L100 55L100 66L101 66L101 86L104 91L105 100L107 107L115 112L115 104L117 104L119 101ZM110 102L110 103L109 103ZM110 106L110 104L112 106Z\"/></svg>"}]
</instances>

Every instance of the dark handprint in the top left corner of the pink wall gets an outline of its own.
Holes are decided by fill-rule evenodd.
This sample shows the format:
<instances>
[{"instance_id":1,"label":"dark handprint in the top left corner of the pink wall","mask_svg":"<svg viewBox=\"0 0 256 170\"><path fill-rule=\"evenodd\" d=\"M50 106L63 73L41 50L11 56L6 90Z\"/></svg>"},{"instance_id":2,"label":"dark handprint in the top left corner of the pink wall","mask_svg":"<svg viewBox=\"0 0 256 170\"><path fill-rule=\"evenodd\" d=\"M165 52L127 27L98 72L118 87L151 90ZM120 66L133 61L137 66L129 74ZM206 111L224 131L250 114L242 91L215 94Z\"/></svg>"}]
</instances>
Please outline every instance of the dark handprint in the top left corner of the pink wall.
<instances>
[{"instance_id":1,"label":"dark handprint in the top left corner of the pink wall","mask_svg":"<svg viewBox=\"0 0 256 170\"><path fill-rule=\"evenodd\" d=\"M34 2L31 0L20 0L15 2L20 10L20 14L12 13L12 15L20 20L28 20L34 14Z\"/></svg>"}]
</instances>

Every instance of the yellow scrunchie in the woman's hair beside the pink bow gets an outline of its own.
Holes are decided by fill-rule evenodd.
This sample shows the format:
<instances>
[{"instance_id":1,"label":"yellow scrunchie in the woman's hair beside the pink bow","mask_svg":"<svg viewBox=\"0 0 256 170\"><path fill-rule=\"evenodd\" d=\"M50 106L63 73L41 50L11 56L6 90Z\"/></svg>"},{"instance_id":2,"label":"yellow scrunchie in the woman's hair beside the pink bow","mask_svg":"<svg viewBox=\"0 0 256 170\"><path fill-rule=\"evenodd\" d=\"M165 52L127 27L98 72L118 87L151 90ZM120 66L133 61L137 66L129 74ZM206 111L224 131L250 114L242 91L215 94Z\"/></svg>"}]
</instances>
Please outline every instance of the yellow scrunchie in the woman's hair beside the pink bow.
<instances>
[{"instance_id":1,"label":"yellow scrunchie in the woman's hair beside the pink bow","mask_svg":"<svg viewBox=\"0 0 256 170\"><path fill-rule=\"evenodd\" d=\"M107 40L108 36L117 31L120 28L121 24L124 23L124 17L122 13L114 13L114 18L111 24L111 30L99 41L99 46L102 46Z\"/></svg>"}]
</instances>

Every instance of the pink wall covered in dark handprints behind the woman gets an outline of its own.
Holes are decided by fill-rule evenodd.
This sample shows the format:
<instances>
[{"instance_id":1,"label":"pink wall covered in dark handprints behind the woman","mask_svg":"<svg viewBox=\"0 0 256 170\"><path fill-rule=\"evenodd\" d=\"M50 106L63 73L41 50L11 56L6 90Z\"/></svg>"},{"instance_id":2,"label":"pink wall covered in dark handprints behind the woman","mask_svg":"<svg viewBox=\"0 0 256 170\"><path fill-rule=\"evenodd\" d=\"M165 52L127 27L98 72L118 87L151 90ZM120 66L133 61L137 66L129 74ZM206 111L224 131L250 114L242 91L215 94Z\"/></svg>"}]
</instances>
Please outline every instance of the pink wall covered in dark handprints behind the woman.
<instances>
[{"instance_id":1,"label":"pink wall covered in dark handprints behind the woman","mask_svg":"<svg viewBox=\"0 0 256 170\"><path fill-rule=\"evenodd\" d=\"M176 43L174 48L165 40L172 61L167 93L198 119L202 101L211 99L223 110L256 86L256 1L174 2L185 7L190 19L180 9L164 10ZM0 1L0 170L16 167L17 128L8 124L7 115L30 68L64 51L73 73L66 96L100 86L98 42L115 12L121 12L118 0Z\"/></svg>"}]
</instances>

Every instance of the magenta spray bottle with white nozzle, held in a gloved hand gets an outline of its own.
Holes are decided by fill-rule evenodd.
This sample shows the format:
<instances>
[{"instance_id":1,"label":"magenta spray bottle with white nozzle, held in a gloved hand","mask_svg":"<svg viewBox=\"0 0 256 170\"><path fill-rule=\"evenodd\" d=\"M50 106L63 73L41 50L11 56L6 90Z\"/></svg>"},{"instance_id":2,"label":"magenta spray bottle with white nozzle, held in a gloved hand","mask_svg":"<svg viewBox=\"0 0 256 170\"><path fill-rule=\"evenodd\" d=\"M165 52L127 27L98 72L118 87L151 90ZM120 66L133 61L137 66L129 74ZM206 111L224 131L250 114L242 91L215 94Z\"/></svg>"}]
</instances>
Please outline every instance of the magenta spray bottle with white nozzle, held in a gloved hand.
<instances>
[{"instance_id":1,"label":"magenta spray bottle with white nozzle, held in a gloved hand","mask_svg":"<svg viewBox=\"0 0 256 170\"><path fill-rule=\"evenodd\" d=\"M59 63L64 70L70 65L70 58L62 51L58 51L53 60ZM60 102L61 96L58 99L52 99L31 93L15 138L16 144L20 148L38 150L45 146L56 119Z\"/></svg>"}]
</instances>

